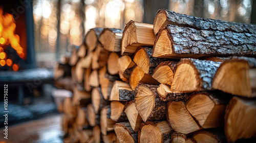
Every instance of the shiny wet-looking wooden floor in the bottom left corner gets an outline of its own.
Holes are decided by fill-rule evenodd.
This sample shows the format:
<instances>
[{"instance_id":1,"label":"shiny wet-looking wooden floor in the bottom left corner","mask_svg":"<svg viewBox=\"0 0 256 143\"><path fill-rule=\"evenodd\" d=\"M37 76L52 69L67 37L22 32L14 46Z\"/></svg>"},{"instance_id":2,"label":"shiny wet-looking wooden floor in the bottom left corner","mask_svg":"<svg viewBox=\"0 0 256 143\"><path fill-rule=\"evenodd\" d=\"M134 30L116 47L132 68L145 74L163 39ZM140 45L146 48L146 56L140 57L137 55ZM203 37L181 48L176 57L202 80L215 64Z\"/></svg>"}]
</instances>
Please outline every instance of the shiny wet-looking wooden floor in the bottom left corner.
<instances>
[{"instance_id":1,"label":"shiny wet-looking wooden floor in the bottom left corner","mask_svg":"<svg viewBox=\"0 0 256 143\"><path fill-rule=\"evenodd\" d=\"M3 130L0 130L0 143L27 143L27 142L63 142L61 139L61 114L51 115L39 120L25 122L8 128L8 139L4 138Z\"/></svg>"}]
</instances>

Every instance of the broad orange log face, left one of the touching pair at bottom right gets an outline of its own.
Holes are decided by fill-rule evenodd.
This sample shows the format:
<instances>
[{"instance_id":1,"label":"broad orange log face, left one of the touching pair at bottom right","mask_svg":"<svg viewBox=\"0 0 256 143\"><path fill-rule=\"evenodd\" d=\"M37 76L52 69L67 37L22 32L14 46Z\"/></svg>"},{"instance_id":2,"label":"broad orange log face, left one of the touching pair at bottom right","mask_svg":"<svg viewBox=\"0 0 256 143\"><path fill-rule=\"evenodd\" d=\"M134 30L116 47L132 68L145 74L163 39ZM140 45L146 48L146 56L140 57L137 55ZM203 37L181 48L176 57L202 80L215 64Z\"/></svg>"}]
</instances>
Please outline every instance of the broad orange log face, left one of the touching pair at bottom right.
<instances>
[{"instance_id":1,"label":"broad orange log face, left one of the touching pair at bottom right","mask_svg":"<svg viewBox=\"0 0 256 143\"><path fill-rule=\"evenodd\" d=\"M167 121L176 132L188 134L200 130L193 116L187 111L184 102L170 101L167 104Z\"/></svg>"}]
</instances>

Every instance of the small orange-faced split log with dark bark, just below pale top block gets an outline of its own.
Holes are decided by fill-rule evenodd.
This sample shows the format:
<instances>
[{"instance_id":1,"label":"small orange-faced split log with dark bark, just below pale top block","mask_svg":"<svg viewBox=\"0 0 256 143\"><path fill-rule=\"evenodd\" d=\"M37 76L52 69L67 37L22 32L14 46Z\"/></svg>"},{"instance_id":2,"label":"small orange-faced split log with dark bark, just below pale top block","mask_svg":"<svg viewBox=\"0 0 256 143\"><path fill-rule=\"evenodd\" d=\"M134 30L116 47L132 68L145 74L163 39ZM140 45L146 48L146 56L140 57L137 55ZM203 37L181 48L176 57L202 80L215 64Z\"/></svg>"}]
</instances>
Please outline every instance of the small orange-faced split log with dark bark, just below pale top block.
<instances>
[{"instance_id":1,"label":"small orange-faced split log with dark bark, just below pale top block","mask_svg":"<svg viewBox=\"0 0 256 143\"><path fill-rule=\"evenodd\" d=\"M152 47L140 46L134 54L133 61L144 71L146 74L152 74L153 70L161 62L167 59L152 57Z\"/></svg>"}]
</instances>

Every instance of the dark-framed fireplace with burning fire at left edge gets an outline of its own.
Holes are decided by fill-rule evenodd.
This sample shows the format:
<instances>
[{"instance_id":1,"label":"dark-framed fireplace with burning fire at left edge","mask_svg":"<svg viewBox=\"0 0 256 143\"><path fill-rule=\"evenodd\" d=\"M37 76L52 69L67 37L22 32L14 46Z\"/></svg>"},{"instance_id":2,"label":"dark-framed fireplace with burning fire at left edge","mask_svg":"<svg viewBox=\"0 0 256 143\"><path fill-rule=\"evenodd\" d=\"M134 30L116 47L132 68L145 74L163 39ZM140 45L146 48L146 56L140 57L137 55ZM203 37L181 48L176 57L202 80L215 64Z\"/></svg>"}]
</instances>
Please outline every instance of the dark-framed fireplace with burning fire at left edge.
<instances>
[{"instance_id":1,"label":"dark-framed fireplace with burning fire at left edge","mask_svg":"<svg viewBox=\"0 0 256 143\"><path fill-rule=\"evenodd\" d=\"M0 1L0 70L36 65L32 0Z\"/></svg>"}]
</instances>

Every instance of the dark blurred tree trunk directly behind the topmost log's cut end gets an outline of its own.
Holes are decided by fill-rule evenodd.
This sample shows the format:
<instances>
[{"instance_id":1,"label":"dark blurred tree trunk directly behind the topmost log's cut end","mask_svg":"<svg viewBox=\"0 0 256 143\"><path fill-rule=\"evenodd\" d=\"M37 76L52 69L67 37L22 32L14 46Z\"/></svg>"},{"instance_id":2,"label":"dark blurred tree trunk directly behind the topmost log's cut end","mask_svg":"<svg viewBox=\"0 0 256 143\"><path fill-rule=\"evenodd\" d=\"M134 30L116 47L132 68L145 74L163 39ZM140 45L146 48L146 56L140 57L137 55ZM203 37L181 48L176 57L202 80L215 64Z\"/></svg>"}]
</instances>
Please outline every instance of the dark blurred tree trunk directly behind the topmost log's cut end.
<instances>
[{"instance_id":1,"label":"dark blurred tree trunk directly behind the topmost log's cut end","mask_svg":"<svg viewBox=\"0 0 256 143\"><path fill-rule=\"evenodd\" d=\"M144 16L143 22L153 24L154 17L159 9L168 9L169 0L144 0Z\"/></svg>"}]
</instances>

